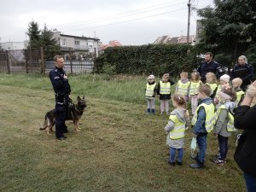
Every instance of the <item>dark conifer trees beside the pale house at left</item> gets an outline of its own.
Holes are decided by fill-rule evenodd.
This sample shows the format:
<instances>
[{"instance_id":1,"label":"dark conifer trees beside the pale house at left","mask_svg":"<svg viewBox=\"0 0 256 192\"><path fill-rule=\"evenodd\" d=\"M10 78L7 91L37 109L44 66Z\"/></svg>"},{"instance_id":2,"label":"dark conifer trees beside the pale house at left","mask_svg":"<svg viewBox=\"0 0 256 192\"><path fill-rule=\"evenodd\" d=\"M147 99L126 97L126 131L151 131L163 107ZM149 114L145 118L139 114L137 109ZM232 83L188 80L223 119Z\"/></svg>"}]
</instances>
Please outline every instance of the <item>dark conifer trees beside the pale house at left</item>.
<instances>
[{"instance_id":1,"label":"dark conifer trees beside the pale house at left","mask_svg":"<svg viewBox=\"0 0 256 192\"><path fill-rule=\"evenodd\" d=\"M54 33L45 24L44 29L40 30L38 23L32 20L28 25L26 34L30 38L28 49L43 47L45 60L53 60L55 55L61 54L61 47L53 38Z\"/></svg>"}]
</instances>

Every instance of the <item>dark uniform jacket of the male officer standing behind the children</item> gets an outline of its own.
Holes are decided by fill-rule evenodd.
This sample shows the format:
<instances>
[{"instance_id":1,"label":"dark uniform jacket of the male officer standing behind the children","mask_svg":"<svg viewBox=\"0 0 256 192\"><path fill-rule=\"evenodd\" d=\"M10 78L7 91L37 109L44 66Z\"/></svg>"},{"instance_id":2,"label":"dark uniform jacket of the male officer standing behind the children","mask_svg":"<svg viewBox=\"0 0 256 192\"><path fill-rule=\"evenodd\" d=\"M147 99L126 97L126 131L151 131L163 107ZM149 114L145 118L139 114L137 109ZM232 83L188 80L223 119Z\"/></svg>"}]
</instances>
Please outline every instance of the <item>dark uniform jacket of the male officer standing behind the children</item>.
<instances>
[{"instance_id":1,"label":"dark uniform jacket of the male officer standing behind the children","mask_svg":"<svg viewBox=\"0 0 256 192\"><path fill-rule=\"evenodd\" d=\"M206 61L201 61L199 67L197 69L198 73L200 73L201 79L206 79L206 74L212 72L214 74L217 73L218 69L218 62L211 61L207 63Z\"/></svg>"}]
</instances>

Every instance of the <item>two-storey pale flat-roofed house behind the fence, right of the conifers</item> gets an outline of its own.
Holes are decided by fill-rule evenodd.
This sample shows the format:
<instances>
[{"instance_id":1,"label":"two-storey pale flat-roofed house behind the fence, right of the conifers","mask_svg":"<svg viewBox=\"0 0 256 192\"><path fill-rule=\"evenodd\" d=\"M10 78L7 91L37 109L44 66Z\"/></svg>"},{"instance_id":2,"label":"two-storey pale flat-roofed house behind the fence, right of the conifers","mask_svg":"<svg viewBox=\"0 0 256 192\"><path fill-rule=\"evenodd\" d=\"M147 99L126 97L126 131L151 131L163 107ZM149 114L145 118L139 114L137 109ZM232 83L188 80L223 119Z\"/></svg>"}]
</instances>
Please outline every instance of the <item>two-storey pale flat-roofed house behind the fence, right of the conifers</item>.
<instances>
[{"instance_id":1,"label":"two-storey pale flat-roofed house behind the fence, right of the conifers","mask_svg":"<svg viewBox=\"0 0 256 192\"><path fill-rule=\"evenodd\" d=\"M66 35L58 32L56 29L53 32L53 38L60 44L61 51L64 52L65 58L69 59L69 57L73 55L73 57L75 57L74 59L83 60L88 56L98 56L99 38Z\"/></svg>"}]
</instances>

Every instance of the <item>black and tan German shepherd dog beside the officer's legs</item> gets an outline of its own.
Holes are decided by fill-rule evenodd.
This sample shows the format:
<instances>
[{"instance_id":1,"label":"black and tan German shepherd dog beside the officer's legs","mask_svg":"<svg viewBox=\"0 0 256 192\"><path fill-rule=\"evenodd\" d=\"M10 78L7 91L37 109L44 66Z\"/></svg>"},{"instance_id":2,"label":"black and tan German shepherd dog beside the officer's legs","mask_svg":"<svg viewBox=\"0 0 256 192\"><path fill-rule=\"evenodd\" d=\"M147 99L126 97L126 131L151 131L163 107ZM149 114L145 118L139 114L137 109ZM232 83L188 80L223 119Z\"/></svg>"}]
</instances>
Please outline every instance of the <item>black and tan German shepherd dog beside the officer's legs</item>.
<instances>
[{"instance_id":1,"label":"black and tan German shepherd dog beside the officer's legs","mask_svg":"<svg viewBox=\"0 0 256 192\"><path fill-rule=\"evenodd\" d=\"M84 113L84 109L87 107L86 101L83 98L81 99L80 96L77 97L77 103L69 104L68 107L68 114L66 120L73 120L74 130L79 131L79 119L82 117ZM45 114L44 118L44 126L40 127L40 130L45 130L47 135L50 135L50 132L53 131L52 127L55 125L55 109L50 110Z\"/></svg>"}]
</instances>

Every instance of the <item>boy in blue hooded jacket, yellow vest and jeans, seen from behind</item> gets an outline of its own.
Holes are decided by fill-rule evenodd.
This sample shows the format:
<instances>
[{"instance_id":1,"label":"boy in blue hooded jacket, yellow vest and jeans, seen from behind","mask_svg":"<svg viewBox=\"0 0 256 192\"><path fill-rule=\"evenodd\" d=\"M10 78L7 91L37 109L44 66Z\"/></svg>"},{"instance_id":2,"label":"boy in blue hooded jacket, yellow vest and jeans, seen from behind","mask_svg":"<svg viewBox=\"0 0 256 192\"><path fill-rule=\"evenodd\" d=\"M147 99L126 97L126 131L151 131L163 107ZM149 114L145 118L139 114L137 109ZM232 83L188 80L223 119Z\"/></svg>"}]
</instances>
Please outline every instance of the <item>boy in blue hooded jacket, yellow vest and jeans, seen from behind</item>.
<instances>
[{"instance_id":1,"label":"boy in blue hooded jacket, yellow vest and jeans, seen from behind","mask_svg":"<svg viewBox=\"0 0 256 192\"><path fill-rule=\"evenodd\" d=\"M214 105L210 95L211 87L208 84L202 84L198 89L199 106L195 110L191 125L193 126L193 136L196 137L196 143L199 153L195 157L196 163L190 164L191 168L203 168L207 152L207 133L212 131L212 117L214 115Z\"/></svg>"}]
</instances>

